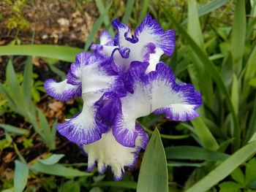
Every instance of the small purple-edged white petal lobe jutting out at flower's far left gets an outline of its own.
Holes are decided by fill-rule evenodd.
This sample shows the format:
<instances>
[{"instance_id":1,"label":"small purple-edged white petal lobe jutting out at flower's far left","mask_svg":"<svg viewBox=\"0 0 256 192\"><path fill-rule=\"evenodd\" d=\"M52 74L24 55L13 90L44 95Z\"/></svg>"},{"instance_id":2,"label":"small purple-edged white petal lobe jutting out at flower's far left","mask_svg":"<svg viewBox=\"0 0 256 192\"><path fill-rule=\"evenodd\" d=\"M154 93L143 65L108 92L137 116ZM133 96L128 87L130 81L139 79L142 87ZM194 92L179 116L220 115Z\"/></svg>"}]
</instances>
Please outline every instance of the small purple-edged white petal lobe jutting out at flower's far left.
<instances>
[{"instance_id":1,"label":"small purple-edged white petal lobe jutting out at flower's far left","mask_svg":"<svg viewBox=\"0 0 256 192\"><path fill-rule=\"evenodd\" d=\"M67 80L56 82L49 79L44 83L45 91L48 95L59 99L61 101L67 101L75 96L81 96L81 87L79 85L71 85L67 83Z\"/></svg>"}]
</instances>

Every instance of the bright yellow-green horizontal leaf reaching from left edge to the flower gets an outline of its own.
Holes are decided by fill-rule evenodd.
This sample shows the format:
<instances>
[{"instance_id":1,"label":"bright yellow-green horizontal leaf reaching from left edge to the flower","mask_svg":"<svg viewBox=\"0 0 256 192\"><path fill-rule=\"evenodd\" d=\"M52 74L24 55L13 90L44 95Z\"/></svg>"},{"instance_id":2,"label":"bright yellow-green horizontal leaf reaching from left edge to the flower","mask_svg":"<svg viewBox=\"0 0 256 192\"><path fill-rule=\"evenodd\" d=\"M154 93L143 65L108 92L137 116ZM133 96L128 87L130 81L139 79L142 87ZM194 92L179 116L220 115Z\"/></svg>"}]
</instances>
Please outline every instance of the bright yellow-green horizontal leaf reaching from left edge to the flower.
<instances>
[{"instance_id":1,"label":"bright yellow-green horizontal leaf reaching from left edge to the flower","mask_svg":"<svg viewBox=\"0 0 256 192\"><path fill-rule=\"evenodd\" d=\"M59 45L12 45L0 46L0 55L30 55L43 58L55 58L61 61L74 62L75 55L82 49Z\"/></svg>"}]
</instances>

